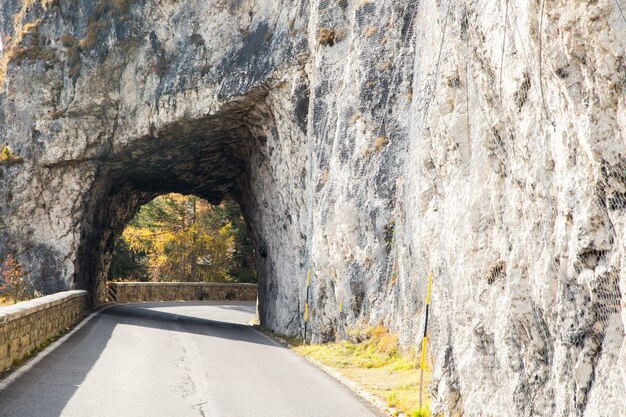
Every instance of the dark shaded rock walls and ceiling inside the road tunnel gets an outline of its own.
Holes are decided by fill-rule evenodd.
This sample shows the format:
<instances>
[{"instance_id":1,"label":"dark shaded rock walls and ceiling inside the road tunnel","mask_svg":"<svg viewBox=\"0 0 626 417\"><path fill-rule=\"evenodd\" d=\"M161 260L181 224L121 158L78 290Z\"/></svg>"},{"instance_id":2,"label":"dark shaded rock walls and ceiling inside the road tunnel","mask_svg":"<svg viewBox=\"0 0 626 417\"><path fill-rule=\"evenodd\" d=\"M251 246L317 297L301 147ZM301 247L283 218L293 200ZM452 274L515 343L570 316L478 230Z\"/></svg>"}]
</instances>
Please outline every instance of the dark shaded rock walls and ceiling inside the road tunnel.
<instances>
[{"instance_id":1,"label":"dark shaded rock walls and ceiling inside the road tunnel","mask_svg":"<svg viewBox=\"0 0 626 417\"><path fill-rule=\"evenodd\" d=\"M271 291L265 288L275 284L265 285L267 248L258 224L251 221L258 217L251 175L266 159L268 122L264 120L262 127L257 123L251 108L231 109L151 129L145 137L116 146L99 162L89 191L72 286L87 290L94 305L105 300L115 242L139 209L155 197L179 193L212 204L232 199L241 207L254 247L263 316L272 303Z\"/></svg>"}]
</instances>

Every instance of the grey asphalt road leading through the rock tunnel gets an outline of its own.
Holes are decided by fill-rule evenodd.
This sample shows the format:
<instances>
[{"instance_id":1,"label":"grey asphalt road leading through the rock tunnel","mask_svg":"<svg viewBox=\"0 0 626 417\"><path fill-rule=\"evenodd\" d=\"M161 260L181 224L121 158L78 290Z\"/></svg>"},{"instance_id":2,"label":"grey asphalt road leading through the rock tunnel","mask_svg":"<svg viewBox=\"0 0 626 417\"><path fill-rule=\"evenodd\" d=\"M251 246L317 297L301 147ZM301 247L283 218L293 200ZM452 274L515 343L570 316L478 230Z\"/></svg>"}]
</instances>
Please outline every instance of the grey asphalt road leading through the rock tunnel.
<instances>
[{"instance_id":1,"label":"grey asphalt road leading through the rock tunnel","mask_svg":"<svg viewBox=\"0 0 626 417\"><path fill-rule=\"evenodd\" d=\"M245 323L254 303L109 307L0 391L11 417L378 416Z\"/></svg>"}]
</instances>

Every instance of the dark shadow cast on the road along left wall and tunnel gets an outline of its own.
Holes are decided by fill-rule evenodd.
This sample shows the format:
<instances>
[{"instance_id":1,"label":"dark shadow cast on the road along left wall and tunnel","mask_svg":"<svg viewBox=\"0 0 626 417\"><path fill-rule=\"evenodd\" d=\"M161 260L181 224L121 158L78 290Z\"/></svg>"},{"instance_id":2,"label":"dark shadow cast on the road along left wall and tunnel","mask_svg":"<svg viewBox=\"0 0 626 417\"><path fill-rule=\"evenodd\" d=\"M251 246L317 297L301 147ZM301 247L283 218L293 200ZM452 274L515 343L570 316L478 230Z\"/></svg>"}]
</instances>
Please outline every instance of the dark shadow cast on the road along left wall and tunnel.
<instances>
[{"instance_id":1,"label":"dark shadow cast on the road along left wall and tunnel","mask_svg":"<svg viewBox=\"0 0 626 417\"><path fill-rule=\"evenodd\" d=\"M194 303L180 305L189 307L194 306ZM203 305L206 304L197 304ZM176 305L174 303L114 305L100 312L65 343L50 352L5 390L0 391L0 417L61 416L119 325L149 327L166 332L186 332L283 349L246 325L150 309L155 307L175 308ZM249 312L249 308L236 305L224 307ZM102 383L107 384L107 381Z\"/></svg>"}]
</instances>

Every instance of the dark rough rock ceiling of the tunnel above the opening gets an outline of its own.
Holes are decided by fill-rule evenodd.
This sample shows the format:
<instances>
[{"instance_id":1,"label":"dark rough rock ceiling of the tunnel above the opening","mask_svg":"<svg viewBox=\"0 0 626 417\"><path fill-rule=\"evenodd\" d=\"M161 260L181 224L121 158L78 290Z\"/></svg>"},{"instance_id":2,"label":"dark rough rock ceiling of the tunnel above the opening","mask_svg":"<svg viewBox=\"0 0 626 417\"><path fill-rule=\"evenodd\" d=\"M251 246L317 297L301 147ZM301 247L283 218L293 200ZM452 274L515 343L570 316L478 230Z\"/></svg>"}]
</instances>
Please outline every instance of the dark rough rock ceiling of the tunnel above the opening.
<instances>
[{"instance_id":1,"label":"dark rough rock ceiling of the tunnel above the opening","mask_svg":"<svg viewBox=\"0 0 626 417\"><path fill-rule=\"evenodd\" d=\"M245 149L256 140L239 122L220 118L174 123L111 155L111 192L196 194L218 203L245 175Z\"/></svg>"}]
</instances>

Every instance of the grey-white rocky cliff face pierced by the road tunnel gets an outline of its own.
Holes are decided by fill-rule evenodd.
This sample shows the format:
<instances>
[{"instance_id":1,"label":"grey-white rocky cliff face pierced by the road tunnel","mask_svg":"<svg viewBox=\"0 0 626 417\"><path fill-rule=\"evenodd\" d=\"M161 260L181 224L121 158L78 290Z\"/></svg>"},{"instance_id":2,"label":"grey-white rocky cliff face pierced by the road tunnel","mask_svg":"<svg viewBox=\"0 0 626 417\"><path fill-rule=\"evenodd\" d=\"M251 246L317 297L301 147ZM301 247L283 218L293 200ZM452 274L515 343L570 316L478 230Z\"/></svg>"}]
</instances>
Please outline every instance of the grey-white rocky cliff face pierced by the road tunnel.
<instances>
[{"instance_id":1,"label":"grey-white rocky cliff face pierced by the road tunnel","mask_svg":"<svg viewBox=\"0 0 626 417\"><path fill-rule=\"evenodd\" d=\"M314 340L414 345L432 273L436 411L624 416L621 4L4 1L0 256L97 299L141 204L230 195L273 329L310 265Z\"/></svg>"}]
</instances>

